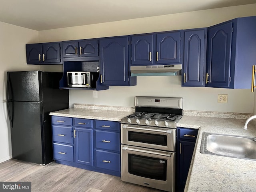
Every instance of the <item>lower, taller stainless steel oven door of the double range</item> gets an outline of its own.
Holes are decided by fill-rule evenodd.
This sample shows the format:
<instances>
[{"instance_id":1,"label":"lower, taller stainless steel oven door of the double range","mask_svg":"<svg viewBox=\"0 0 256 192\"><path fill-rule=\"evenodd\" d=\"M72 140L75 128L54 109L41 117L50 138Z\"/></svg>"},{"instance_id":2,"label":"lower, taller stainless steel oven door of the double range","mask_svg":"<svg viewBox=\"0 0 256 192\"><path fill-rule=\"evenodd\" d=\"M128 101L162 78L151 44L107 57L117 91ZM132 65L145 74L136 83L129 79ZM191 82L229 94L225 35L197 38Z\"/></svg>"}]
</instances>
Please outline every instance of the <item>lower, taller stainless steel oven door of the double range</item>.
<instances>
[{"instance_id":1,"label":"lower, taller stainless steel oven door of the double range","mask_svg":"<svg viewBox=\"0 0 256 192\"><path fill-rule=\"evenodd\" d=\"M121 145L121 180L175 191L175 153Z\"/></svg>"}]
</instances>

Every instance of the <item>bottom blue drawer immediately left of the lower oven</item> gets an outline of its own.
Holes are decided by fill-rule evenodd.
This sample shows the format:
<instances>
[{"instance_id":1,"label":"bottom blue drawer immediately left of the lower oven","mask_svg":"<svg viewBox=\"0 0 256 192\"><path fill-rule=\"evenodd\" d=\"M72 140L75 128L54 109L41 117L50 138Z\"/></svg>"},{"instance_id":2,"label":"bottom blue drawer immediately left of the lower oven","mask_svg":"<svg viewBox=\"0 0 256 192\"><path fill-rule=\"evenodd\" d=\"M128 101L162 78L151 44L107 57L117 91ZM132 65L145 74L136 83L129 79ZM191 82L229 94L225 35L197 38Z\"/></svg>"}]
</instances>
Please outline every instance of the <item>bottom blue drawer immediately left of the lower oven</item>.
<instances>
[{"instance_id":1,"label":"bottom blue drawer immediately left of the lower oven","mask_svg":"<svg viewBox=\"0 0 256 192\"><path fill-rule=\"evenodd\" d=\"M120 154L96 150L96 166L120 172Z\"/></svg>"}]
</instances>

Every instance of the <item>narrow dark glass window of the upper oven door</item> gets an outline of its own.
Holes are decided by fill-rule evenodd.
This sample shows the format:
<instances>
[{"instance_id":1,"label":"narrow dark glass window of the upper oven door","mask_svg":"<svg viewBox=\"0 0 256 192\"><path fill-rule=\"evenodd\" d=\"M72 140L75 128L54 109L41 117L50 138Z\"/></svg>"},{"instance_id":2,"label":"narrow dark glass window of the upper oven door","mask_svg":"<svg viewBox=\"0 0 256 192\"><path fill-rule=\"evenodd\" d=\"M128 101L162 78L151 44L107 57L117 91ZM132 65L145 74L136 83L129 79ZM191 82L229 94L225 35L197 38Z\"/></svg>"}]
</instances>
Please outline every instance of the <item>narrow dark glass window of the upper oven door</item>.
<instances>
[{"instance_id":1,"label":"narrow dark glass window of the upper oven door","mask_svg":"<svg viewBox=\"0 0 256 192\"><path fill-rule=\"evenodd\" d=\"M167 146L167 136L160 135L160 134L128 131L128 140L141 142L141 143L150 143L155 145Z\"/></svg>"}]
</instances>

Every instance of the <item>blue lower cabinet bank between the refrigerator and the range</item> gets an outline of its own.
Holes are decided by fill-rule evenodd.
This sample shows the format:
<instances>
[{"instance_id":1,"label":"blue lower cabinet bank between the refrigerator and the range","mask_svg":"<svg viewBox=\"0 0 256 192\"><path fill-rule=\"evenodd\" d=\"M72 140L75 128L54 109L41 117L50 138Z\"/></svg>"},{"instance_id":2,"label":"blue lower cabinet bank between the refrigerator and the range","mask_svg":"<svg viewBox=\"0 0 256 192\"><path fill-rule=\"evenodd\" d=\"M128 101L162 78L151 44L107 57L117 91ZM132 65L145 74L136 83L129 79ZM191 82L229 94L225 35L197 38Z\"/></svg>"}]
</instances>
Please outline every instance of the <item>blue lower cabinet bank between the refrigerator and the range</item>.
<instances>
[{"instance_id":1,"label":"blue lower cabinet bank between the refrigerator and the range","mask_svg":"<svg viewBox=\"0 0 256 192\"><path fill-rule=\"evenodd\" d=\"M56 163L121 176L120 122L52 117Z\"/></svg>"}]
</instances>

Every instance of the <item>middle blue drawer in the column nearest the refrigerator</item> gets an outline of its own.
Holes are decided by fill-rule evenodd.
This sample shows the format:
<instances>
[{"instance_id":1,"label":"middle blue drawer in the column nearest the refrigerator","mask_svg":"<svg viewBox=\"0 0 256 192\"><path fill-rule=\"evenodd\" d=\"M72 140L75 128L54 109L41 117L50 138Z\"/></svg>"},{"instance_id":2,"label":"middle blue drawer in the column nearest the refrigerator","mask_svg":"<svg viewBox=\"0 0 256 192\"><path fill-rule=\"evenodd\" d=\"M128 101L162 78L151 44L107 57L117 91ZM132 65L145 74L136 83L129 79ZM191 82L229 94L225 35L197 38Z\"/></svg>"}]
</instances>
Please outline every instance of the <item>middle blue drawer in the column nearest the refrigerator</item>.
<instances>
[{"instance_id":1,"label":"middle blue drawer in the column nearest the refrigerator","mask_svg":"<svg viewBox=\"0 0 256 192\"><path fill-rule=\"evenodd\" d=\"M52 126L52 139L54 142L73 144L72 127Z\"/></svg>"}]
</instances>

